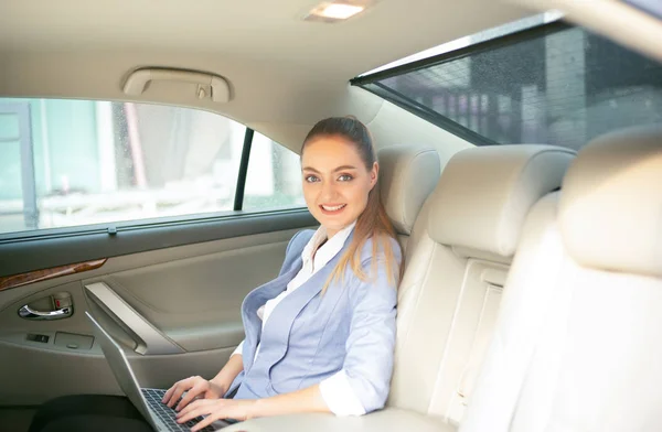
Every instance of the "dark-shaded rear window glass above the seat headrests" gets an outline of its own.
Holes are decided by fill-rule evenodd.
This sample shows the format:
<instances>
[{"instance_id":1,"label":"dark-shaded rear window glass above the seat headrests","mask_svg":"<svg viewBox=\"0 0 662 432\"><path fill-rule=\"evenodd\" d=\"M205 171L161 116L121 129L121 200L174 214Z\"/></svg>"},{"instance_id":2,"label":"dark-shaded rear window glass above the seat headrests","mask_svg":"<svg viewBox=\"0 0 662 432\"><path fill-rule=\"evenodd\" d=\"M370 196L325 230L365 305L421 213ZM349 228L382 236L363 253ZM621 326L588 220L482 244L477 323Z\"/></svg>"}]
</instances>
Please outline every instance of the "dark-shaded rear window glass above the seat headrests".
<instances>
[{"instance_id":1,"label":"dark-shaded rear window glass above the seat headrests","mask_svg":"<svg viewBox=\"0 0 662 432\"><path fill-rule=\"evenodd\" d=\"M562 23L354 83L477 144L577 149L615 129L662 121L661 64Z\"/></svg>"}]
</instances>

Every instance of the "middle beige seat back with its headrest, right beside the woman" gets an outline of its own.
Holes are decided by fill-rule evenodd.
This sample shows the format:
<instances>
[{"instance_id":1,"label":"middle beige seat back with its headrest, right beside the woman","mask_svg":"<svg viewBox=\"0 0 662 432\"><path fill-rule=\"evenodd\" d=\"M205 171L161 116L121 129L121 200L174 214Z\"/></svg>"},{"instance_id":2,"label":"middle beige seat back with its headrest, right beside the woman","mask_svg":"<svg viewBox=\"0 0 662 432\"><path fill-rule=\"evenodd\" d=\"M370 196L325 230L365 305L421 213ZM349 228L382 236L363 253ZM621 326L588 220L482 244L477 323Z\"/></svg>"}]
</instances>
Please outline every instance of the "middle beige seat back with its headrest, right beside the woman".
<instances>
[{"instance_id":1,"label":"middle beige seat back with its headrest, right beside the woman","mask_svg":"<svg viewBox=\"0 0 662 432\"><path fill-rule=\"evenodd\" d=\"M522 144L450 159L409 238L389 406L460 421L522 223L574 155Z\"/></svg>"}]
</instances>

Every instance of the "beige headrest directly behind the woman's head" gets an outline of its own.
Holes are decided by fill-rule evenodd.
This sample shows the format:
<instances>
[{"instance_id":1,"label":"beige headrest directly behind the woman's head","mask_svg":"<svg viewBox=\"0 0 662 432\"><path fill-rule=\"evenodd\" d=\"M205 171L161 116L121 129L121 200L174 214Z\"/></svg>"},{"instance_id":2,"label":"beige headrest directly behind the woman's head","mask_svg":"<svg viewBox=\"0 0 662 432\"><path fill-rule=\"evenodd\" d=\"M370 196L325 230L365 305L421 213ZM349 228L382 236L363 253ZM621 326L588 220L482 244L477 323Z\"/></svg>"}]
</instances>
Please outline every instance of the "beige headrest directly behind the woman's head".
<instances>
[{"instance_id":1,"label":"beige headrest directly behind the woman's head","mask_svg":"<svg viewBox=\"0 0 662 432\"><path fill-rule=\"evenodd\" d=\"M409 235L423 207L435 188L441 163L433 148L392 145L380 150L382 203L395 230Z\"/></svg>"}]
</instances>

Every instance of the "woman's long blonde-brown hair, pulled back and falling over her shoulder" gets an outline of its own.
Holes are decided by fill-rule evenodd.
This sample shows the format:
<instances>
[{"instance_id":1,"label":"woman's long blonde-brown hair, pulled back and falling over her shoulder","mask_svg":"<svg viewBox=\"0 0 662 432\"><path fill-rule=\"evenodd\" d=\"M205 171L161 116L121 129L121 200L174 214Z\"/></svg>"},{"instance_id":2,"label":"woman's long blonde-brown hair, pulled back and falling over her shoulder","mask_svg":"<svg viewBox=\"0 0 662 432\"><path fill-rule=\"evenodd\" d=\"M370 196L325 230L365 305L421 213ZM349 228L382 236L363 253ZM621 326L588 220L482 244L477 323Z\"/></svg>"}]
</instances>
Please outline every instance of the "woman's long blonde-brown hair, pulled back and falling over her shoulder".
<instances>
[{"instance_id":1,"label":"woman's long blonde-brown hair, pulled back and falling over her shoulder","mask_svg":"<svg viewBox=\"0 0 662 432\"><path fill-rule=\"evenodd\" d=\"M344 141L352 143L356 148L366 170L372 170L374 163L377 161L370 131L365 125L354 117L331 117L320 120L313 126L303 140L301 154L303 154L308 142L321 137L339 137ZM393 224L388 219L384 205L382 204L378 177L377 182L367 194L365 209L356 219L352 242L346 251L340 257L340 261L331 272L331 276L322 289L322 293L327 291L327 288L333 280L343 279L348 267L350 267L354 274L362 281L369 280L369 276L363 271L361 266L361 250L371 238L373 240L371 272L373 276L376 276L377 256L380 250L382 250L386 259L385 264L388 282L393 284L398 283L402 279L404 262L401 262L398 266L395 260L391 239L397 241L397 237L395 228L393 228Z\"/></svg>"}]
</instances>

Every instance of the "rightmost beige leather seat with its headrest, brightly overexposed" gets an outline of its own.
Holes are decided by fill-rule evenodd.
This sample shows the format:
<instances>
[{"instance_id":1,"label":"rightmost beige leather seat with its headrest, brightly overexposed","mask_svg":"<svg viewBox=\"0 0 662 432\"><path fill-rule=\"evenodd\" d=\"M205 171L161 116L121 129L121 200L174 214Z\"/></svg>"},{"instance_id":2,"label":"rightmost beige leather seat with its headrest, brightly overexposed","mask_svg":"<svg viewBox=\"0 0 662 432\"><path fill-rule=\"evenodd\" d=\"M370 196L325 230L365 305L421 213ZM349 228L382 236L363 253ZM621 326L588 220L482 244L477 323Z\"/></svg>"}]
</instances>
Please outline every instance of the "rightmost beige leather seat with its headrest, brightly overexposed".
<instances>
[{"instance_id":1,"label":"rightmost beige leather seat with its headrest, brightly overexposed","mask_svg":"<svg viewBox=\"0 0 662 432\"><path fill-rule=\"evenodd\" d=\"M461 432L662 431L662 127L533 208Z\"/></svg>"}]
</instances>

